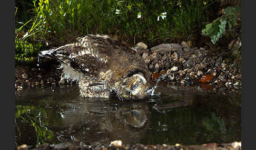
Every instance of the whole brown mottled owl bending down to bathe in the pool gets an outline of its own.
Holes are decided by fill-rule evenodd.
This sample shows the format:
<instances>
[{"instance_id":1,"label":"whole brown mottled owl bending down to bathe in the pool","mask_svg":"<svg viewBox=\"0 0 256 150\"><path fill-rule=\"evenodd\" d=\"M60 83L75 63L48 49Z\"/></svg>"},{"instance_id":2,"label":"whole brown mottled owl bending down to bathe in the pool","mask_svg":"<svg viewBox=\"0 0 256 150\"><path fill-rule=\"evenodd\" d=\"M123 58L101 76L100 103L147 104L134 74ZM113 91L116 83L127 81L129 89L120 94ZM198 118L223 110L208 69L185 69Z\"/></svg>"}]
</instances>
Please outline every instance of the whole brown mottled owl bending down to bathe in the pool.
<instances>
[{"instance_id":1,"label":"whole brown mottled owl bending down to bathe in the pool","mask_svg":"<svg viewBox=\"0 0 256 150\"><path fill-rule=\"evenodd\" d=\"M40 56L60 60L63 79L77 81L82 97L146 97L150 72L133 48L105 35L87 35L77 40L42 51Z\"/></svg>"}]
</instances>

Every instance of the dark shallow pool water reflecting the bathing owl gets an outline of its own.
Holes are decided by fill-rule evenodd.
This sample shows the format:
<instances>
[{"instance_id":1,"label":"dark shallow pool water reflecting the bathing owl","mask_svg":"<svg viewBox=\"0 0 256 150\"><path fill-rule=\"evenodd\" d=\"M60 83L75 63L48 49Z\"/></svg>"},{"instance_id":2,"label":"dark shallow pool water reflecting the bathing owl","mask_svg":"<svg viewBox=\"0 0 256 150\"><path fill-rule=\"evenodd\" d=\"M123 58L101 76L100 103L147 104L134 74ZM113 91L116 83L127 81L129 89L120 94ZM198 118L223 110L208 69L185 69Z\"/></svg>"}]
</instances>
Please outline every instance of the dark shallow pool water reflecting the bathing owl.
<instances>
[{"instance_id":1,"label":"dark shallow pool water reflecting the bathing owl","mask_svg":"<svg viewBox=\"0 0 256 150\"><path fill-rule=\"evenodd\" d=\"M117 101L80 98L77 86L25 89L15 98L16 144L241 141L241 94L168 84L156 92L161 96Z\"/></svg>"}]
</instances>

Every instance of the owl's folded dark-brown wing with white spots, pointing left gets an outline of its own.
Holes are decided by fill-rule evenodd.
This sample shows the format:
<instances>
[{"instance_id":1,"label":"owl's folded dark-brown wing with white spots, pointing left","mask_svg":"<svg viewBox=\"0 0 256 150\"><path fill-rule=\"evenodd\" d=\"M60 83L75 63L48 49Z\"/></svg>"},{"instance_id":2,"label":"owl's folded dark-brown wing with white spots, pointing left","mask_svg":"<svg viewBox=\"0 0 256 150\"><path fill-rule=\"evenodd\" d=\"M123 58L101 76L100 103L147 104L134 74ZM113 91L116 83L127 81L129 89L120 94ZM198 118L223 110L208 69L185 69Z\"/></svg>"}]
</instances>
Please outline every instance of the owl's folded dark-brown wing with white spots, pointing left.
<instances>
[{"instance_id":1,"label":"owl's folded dark-brown wing with white spots, pointing left","mask_svg":"<svg viewBox=\"0 0 256 150\"><path fill-rule=\"evenodd\" d=\"M89 51L88 51L89 49ZM107 64L102 61L105 60L104 56L92 53L90 48L75 44L67 44L57 49L51 49L40 52L40 56L52 57L60 60L62 63L71 67L74 71L83 72L85 77L95 78L97 73ZM101 84L99 82L97 84Z\"/></svg>"}]
</instances>

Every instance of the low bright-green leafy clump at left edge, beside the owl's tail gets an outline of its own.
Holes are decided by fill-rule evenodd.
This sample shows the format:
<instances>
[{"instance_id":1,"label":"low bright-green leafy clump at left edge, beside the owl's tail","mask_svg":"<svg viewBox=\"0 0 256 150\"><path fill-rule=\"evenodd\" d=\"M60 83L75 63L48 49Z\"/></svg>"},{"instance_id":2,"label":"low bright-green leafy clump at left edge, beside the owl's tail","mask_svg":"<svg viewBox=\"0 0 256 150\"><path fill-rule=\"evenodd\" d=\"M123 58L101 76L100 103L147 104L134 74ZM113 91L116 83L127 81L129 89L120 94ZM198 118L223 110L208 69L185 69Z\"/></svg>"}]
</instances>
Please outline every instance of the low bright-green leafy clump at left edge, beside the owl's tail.
<instances>
[{"instance_id":1,"label":"low bright-green leafy clump at left edge, beside the owl's tail","mask_svg":"<svg viewBox=\"0 0 256 150\"><path fill-rule=\"evenodd\" d=\"M32 44L15 38L15 61L16 64L32 64L37 61L35 58L42 47L42 43Z\"/></svg>"}]
</instances>

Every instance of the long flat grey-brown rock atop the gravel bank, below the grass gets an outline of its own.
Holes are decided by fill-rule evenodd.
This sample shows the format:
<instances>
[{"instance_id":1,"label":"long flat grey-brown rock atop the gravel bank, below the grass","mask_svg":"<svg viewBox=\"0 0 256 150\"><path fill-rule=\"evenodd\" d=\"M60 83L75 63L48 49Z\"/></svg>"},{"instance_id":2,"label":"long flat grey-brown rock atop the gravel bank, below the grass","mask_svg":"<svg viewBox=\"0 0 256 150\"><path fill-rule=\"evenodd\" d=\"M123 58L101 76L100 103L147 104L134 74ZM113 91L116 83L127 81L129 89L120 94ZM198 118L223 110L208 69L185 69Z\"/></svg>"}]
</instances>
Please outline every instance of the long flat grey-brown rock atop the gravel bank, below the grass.
<instances>
[{"instance_id":1,"label":"long flat grey-brown rock atop the gravel bank, below the grass","mask_svg":"<svg viewBox=\"0 0 256 150\"><path fill-rule=\"evenodd\" d=\"M150 48L150 50L152 52L163 53L163 52L169 52L169 51L176 51L181 48L182 47L179 44L160 44L160 45Z\"/></svg>"}]
</instances>

